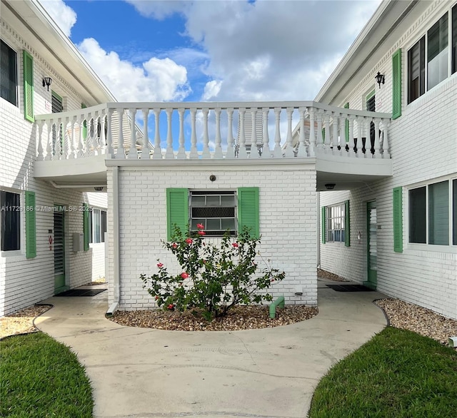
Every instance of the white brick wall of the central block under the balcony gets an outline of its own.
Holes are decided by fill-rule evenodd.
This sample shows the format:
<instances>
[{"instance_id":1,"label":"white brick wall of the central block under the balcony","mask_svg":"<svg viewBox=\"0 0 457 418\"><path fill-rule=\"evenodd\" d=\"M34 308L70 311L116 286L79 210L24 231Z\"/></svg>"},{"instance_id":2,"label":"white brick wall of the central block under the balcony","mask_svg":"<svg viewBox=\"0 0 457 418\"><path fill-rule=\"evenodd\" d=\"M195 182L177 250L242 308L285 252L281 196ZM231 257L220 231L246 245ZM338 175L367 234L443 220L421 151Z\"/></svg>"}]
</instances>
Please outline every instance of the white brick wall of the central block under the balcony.
<instances>
[{"instance_id":1,"label":"white brick wall of the central block under the balcony","mask_svg":"<svg viewBox=\"0 0 457 418\"><path fill-rule=\"evenodd\" d=\"M203 161L202 161L203 163ZM234 190L258 186L260 199L261 254L271 267L286 272L286 279L273 285L274 296L284 295L289 304L316 305L316 175L313 164L288 167L287 163L244 169L202 166L195 170L167 170L122 167L119 171L121 309L136 310L153 306L142 288L141 273L156 272L157 258L170 272L178 272L174 256L164 250L166 239L166 188ZM299 167L299 168L298 168ZM112 169L108 171L108 190L112 190ZM216 175L214 183L209 181ZM293 181L284 181L292 179ZM109 192L109 207L112 204ZM112 211L109 211L109 224ZM113 275L113 243L109 238L108 280ZM209 239L209 238L207 238ZM303 296L296 297L296 286ZM110 289L110 303L113 291Z\"/></svg>"}]
</instances>

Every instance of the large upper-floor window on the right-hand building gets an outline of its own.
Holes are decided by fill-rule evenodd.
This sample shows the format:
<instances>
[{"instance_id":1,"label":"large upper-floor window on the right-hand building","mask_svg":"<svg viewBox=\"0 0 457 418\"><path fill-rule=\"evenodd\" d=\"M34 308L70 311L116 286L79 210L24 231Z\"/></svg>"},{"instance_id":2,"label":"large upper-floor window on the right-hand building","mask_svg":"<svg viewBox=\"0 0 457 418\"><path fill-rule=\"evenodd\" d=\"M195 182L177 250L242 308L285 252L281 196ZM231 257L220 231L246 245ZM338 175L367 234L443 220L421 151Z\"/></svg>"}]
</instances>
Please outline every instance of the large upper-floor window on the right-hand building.
<instances>
[{"instance_id":1,"label":"large upper-floor window on the right-hand building","mask_svg":"<svg viewBox=\"0 0 457 418\"><path fill-rule=\"evenodd\" d=\"M408 103L457 71L457 5L450 13L451 22L444 14L408 51Z\"/></svg>"}]
</instances>

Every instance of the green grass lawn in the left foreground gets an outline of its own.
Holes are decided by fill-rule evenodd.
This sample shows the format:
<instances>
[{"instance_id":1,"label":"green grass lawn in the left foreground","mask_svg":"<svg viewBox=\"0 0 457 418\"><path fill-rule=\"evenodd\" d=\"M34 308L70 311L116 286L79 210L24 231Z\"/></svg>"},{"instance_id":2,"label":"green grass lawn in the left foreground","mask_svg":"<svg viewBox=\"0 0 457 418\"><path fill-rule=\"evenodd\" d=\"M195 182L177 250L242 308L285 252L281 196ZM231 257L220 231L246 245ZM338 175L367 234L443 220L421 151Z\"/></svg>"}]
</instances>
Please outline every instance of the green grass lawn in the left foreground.
<instances>
[{"instance_id":1,"label":"green grass lawn in the left foreground","mask_svg":"<svg viewBox=\"0 0 457 418\"><path fill-rule=\"evenodd\" d=\"M0 341L0 416L92 417L92 389L76 355L42 332Z\"/></svg>"}]
</instances>

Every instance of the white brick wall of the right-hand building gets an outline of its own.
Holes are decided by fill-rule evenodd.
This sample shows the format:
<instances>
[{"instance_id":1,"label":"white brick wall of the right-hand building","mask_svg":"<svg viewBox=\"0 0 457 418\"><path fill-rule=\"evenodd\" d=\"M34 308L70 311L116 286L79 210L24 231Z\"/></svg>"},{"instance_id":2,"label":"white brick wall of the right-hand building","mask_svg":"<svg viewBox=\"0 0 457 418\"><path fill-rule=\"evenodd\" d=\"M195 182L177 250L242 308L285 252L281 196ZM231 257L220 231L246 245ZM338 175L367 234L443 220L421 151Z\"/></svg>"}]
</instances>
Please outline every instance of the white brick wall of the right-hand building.
<instances>
[{"instance_id":1,"label":"white brick wall of the right-hand building","mask_svg":"<svg viewBox=\"0 0 457 418\"><path fill-rule=\"evenodd\" d=\"M426 33L449 4L441 4L420 29L405 28L408 36L392 46L373 71L386 74L376 86L376 111L391 111L391 54L402 48L402 116L391 122L389 143L393 176L347 192L321 193L321 206L351 201L351 247L321 245L321 267L357 282L366 280L366 202L376 200L378 215L378 290L457 318L457 248L408 244L408 187L421 182L457 178L457 73L406 104L407 50ZM436 6L436 5L435 5ZM433 7L435 7L433 6ZM416 26L414 26L416 27ZM371 71L371 72L373 72ZM363 96L373 87L367 76L348 96L351 108L364 106ZM393 252L392 189L403 186L403 253ZM357 240L358 231L362 240Z\"/></svg>"}]
</instances>

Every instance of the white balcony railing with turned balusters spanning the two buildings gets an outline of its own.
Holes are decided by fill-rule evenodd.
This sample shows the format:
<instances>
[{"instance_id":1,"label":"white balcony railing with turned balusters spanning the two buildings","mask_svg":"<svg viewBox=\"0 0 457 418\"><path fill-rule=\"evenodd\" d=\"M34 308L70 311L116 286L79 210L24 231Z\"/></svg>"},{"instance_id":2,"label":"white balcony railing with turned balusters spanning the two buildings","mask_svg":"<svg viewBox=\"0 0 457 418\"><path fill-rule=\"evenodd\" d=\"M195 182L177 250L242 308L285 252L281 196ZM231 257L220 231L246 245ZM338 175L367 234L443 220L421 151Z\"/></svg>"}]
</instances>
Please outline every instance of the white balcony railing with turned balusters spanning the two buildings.
<instances>
[{"instance_id":1,"label":"white balcony railing with turned balusters spanning the two buildings","mask_svg":"<svg viewBox=\"0 0 457 418\"><path fill-rule=\"evenodd\" d=\"M313 101L104 103L36 116L36 158L390 158L390 120Z\"/></svg>"}]
</instances>

